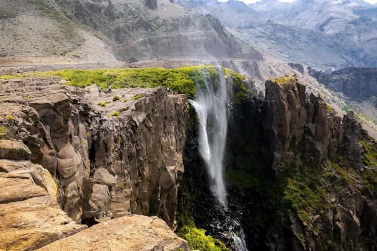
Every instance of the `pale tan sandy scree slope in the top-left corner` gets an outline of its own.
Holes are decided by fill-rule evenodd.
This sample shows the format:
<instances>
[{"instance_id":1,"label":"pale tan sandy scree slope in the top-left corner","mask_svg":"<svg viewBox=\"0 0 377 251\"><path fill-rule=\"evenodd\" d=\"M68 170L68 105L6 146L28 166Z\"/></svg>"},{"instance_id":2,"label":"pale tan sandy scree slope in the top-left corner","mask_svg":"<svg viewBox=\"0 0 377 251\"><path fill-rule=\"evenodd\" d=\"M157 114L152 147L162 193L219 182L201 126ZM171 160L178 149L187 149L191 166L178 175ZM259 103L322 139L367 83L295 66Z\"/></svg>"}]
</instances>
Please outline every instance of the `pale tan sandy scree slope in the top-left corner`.
<instances>
[{"instance_id":1,"label":"pale tan sandy scree slope in the top-left corner","mask_svg":"<svg viewBox=\"0 0 377 251\"><path fill-rule=\"evenodd\" d=\"M115 60L106 43L45 0L1 0L0 60L4 56L51 55Z\"/></svg>"}]
</instances>

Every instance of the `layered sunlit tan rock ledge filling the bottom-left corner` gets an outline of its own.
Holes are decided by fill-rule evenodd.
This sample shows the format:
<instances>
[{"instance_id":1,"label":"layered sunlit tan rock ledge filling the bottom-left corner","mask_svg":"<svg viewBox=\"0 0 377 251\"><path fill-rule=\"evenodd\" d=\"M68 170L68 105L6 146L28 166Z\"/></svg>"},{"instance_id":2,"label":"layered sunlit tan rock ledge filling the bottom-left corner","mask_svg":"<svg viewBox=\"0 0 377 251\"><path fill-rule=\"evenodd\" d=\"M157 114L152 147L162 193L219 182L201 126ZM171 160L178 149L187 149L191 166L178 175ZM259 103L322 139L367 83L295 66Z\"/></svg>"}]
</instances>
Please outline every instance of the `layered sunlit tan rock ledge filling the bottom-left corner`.
<instances>
[{"instance_id":1,"label":"layered sunlit tan rock ledge filling the bottom-left corner","mask_svg":"<svg viewBox=\"0 0 377 251\"><path fill-rule=\"evenodd\" d=\"M30 162L26 145L0 140L0 152L12 152L0 158L0 250L35 250L87 228L60 209L53 177Z\"/></svg>"}]
</instances>

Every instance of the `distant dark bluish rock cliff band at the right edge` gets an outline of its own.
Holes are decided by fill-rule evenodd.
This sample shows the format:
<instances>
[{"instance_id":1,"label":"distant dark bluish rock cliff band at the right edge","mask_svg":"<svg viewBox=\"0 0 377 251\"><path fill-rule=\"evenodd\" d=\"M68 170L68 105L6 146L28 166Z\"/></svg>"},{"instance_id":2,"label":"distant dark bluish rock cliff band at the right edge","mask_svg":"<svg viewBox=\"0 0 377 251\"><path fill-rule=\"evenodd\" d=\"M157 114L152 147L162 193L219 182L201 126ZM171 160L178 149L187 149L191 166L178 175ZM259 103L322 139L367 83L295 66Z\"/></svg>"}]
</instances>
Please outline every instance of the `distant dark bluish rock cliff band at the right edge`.
<instances>
[{"instance_id":1,"label":"distant dark bluish rock cliff band at the right edge","mask_svg":"<svg viewBox=\"0 0 377 251\"><path fill-rule=\"evenodd\" d=\"M377 93L377 67L344 68L324 73L308 67L308 74L333 91L353 99L369 98Z\"/></svg>"}]
</instances>

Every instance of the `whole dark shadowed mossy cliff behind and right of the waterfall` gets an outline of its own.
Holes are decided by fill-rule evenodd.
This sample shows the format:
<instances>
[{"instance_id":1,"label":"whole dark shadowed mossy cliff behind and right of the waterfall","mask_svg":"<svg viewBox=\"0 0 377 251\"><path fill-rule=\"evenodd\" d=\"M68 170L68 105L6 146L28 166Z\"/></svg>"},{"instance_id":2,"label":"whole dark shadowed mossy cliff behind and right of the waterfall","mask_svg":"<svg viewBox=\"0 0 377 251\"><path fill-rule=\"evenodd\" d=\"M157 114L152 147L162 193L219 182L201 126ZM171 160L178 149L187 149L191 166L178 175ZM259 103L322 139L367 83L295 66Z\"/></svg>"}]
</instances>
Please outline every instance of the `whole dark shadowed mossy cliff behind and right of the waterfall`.
<instances>
[{"instance_id":1,"label":"whole dark shadowed mossy cliff behind and right of the waterfall","mask_svg":"<svg viewBox=\"0 0 377 251\"><path fill-rule=\"evenodd\" d=\"M373 250L376 143L353 112L337 117L321 97L306 97L286 76L266 82L264 100L230 101L225 211L205 188L191 124L180 214L229 247L227 229L241 237L241 226L249 250Z\"/></svg>"}]
</instances>

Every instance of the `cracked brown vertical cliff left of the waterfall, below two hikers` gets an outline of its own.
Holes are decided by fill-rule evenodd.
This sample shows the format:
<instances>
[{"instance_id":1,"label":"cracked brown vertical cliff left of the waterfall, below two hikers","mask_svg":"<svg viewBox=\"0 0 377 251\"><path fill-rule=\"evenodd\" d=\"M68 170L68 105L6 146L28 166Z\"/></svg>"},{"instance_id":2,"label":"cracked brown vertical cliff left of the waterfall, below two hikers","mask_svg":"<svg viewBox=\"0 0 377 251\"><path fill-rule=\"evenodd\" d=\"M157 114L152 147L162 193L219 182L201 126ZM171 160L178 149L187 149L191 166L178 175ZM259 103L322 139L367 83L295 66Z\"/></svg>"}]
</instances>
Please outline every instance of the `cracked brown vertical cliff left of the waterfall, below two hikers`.
<instances>
[{"instance_id":1,"label":"cracked brown vertical cliff left of the waterfall, below two hikers","mask_svg":"<svg viewBox=\"0 0 377 251\"><path fill-rule=\"evenodd\" d=\"M46 168L56 181L58 204L75 222L149 214L175 227L184 95L129 88L100 98L95 87L80 90L54 79L3 81L0 91L1 137L7 139L0 142L0 158L30 158ZM126 101L112 102L115 95ZM94 105L105 101L112 103Z\"/></svg>"}]
</instances>

